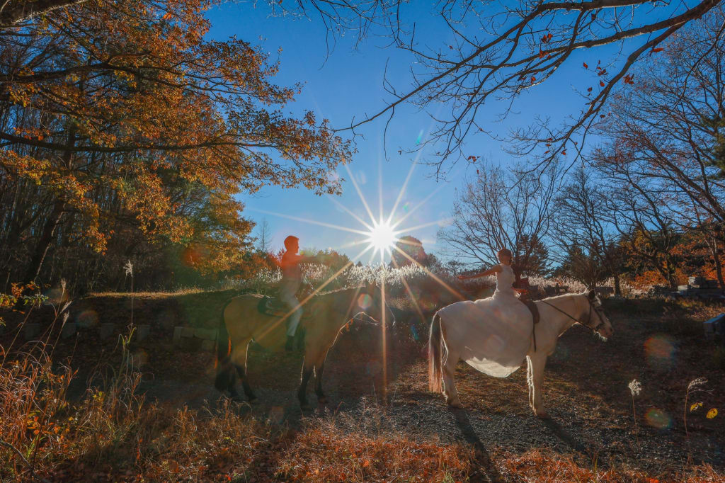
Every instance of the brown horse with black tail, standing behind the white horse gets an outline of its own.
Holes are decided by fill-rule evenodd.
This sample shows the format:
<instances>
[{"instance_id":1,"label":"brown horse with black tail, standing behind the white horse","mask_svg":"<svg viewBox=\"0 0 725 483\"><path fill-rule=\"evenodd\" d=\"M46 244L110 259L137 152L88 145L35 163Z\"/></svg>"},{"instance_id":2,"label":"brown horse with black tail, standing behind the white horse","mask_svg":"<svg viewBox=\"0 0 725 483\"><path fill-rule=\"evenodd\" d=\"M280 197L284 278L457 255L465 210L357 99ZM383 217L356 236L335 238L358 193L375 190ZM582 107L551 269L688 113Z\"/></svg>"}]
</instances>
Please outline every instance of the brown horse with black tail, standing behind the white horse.
<instances>
[{"instance_id":1,"label":"brown horse with black tail, standing behind the white horse","mask_svg":"<svg viewBox=\"0 0 725 483\"><path fill-rule=\"evenodd\" d=\"M240 400L236 392L236 376L239 374L244 394L250 402L256 399L247 380L247 347L254 340L268 350L284 350L286 339L285 318L265 315L257 310L262 295L239 295L222 310L217 342L217 378L215 386L220 391L229 391L234 400ZM302 408L307 404L307 381L315 371L315 393L318 402L324 404L327 398L322 390L322 374L327 352L335 343L340 329L358 314L366 314L373 321L388 323L394 318L384 303L384 295L375 284L352 289L319 294L305 303L305 315L299 329L305 329L305 360L302 363L302 380L297 398ZM230 344L231 341L231 344Z\"/></svg>"}]
</instances>

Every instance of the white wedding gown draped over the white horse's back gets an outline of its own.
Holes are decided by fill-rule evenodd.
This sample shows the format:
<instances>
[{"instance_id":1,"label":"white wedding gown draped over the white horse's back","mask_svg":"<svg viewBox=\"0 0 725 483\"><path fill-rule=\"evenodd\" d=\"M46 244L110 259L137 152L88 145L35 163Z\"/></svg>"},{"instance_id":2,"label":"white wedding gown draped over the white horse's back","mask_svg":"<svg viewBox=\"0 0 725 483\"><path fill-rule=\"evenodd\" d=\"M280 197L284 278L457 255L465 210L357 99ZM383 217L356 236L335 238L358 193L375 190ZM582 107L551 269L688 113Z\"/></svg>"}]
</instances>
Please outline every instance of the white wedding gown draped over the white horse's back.
<instances>
[{"instance_id":1,"label":"white wedding gown draped over the white horse's back","mask_svg":"<svg viewBox=\"0 0 725 483\"><path fill-rule=\"evenodd\" d=\"M495 377L506 377L521 367L533 326L529 308L513 291L513 270L501 266L492 297L455 302L438 311L446 342L460 348L458 356Z\"/></svg>"}]
</instances>

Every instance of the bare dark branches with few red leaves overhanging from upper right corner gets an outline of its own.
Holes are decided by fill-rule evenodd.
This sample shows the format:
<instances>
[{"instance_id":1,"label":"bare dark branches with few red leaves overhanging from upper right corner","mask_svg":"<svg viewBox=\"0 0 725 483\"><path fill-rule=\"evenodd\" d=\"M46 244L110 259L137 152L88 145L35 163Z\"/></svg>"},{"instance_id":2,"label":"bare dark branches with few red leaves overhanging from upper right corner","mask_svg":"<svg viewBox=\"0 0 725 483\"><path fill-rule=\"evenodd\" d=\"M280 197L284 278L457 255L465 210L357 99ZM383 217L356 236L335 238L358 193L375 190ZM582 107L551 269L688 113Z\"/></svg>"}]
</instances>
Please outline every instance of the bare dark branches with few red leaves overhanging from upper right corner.
<instances>
[{"instance_id":1,"label":"bare dark branches with few red leaves overhanging from upper right corner","mask_svg":"<svg viewBox=\"0 0 725 483\"><path fill-rule=\"evenodd\" d=\"M577 160L583 154L587 132L607 115L604 108L613 88L631 83L631 68L647 53L656 54L662 49L658 46L677 30L720 3L520 0L515 7L509 2L486 2L479 9L479 2L450 0L439 4L439 17L454 41L431 48L418 45L415 23L408 33L396 17L396 22L389 22L389 36L399 49L415 57L411 86L388 88L392 99L384 107L339 130L357 134L366 123L390 115L402 104L422 108L442 105L448 114L431 115L436 128L411 150L422 149L425 144L435 146L428 163L434 165L437 175L445 176L452 164L468 159L463 154L465 139L476 133L492 134L492 129L484 128L481 122L481 116L489 114L486 102L505 100L509 107L501 117L506 117L514 99L527 89L552 83L551 77L560 67L571 65L575 51L591 51L596 58L600 48L616 45L619 54L608 53L604 62L592 62L591 67L584 62L597 88L592 86L581 93L581 112L557 125L542 120L528 129L513 131L508 139L510 152L535 157L542 164L556 158L571 159L572 155ZM401 15L399 11L396 14ZM637 38L645 40L638 43ZM385 85L389 86L387 80Z\"/></svg>"}]
</instances>

